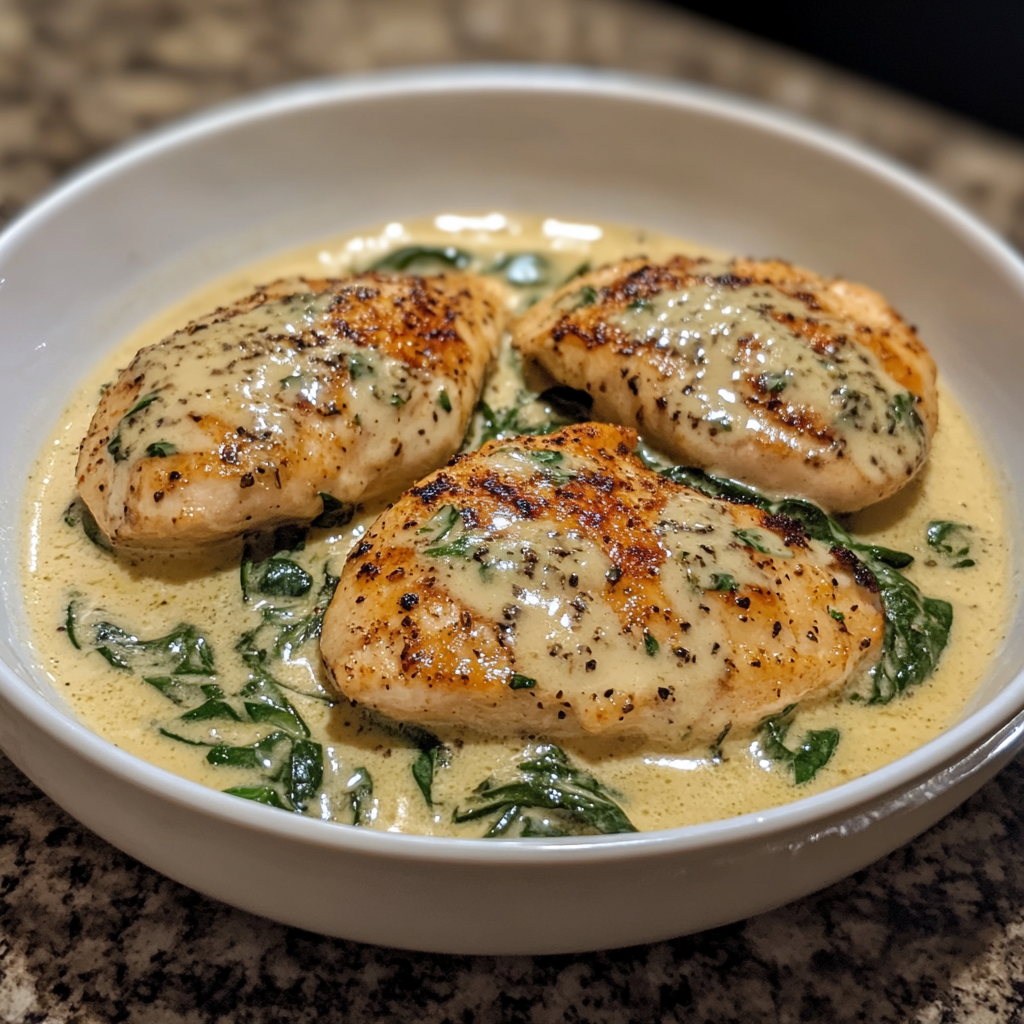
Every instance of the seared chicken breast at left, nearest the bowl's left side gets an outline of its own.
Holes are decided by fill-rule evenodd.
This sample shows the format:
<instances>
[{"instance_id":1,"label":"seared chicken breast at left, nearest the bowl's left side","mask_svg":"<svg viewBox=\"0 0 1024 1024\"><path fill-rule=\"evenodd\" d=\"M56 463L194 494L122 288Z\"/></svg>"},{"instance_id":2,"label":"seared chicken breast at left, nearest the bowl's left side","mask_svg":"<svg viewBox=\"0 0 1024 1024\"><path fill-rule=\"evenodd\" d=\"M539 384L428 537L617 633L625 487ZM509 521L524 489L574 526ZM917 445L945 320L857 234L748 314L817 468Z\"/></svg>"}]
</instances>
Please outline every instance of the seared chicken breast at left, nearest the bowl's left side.
<instances>
[{"instance_id":1,"label":"seared chicken breast at left, nearest the bowl's left side","mask_svg":"<svg viewBox=\"0 0 1024 1024\"><path fill-rule=\"evenodd\" d=\"M79 490L115 546L142 548L398 494L458 450L502 327L472 274L278 281L135 356Z\"/></svg>"}]
</instances>

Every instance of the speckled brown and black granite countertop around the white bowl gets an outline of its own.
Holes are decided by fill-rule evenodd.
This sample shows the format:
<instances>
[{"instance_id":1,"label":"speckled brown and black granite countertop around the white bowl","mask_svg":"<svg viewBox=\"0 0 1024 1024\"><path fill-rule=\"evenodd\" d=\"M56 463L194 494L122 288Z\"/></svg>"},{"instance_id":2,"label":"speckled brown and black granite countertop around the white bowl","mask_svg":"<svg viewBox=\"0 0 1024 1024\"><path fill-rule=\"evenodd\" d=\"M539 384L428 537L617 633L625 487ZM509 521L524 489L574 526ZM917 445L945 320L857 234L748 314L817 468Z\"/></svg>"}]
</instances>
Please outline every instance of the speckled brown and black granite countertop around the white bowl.
<instances>
[{"instance_id":1,"label":"speckled brown and black granite countertop around the white bowl","mask_svg":"<svg viewBox=\"0 0 1024 1024\"><path fill-rule=\"evenodd\" d=\"M1024 246L1024 145L624 0L0 0L0 224L83 159L296 78L545 60L705 82L890 153ZM868 869L702 935L579 956L398 952L285 928L97 839L0 756L0 1020L1024 1020L1024 764Z\"/></svg>"}]
</instances>

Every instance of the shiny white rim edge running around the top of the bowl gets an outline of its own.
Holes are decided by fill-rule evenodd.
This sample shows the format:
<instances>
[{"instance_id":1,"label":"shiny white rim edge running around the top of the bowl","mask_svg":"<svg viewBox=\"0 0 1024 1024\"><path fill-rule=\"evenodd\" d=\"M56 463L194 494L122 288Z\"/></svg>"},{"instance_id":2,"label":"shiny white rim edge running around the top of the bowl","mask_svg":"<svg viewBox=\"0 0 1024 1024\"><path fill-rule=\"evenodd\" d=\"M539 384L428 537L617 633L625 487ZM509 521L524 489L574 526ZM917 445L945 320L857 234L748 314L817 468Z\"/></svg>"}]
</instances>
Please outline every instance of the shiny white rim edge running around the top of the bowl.
<instances>
[{"instance_id":1,"label":"shiny white rim edge running around the top of the bowl","mask_svg":"<svg viewBox=\"0 0 1024 1024\"><path fill-rule=\"evenodd\" d=\"M757 100L703 85L627 72L515 63L433 66L312 79L257 92L188 115L87 162L22 212L0 232L0 270L8 252L16 250L46 221L58 217L62 209L77 203L93 185L136 165L159 159L165 152L180 145L201 140L223 129L273 119L298 110L402 95L466 92L554 92L643 102L688 110L788 138L824 156L840 159L901 193L944 222L963 242L973 245L1024 293L1024 260L993 229L896 161L846 136ZM0 286L2 284L3 279L0 278ZM1016 600L1019 599L1017 595ZM24 640L14 639L16 644L25 645ZM790 804L732 818L654 831L552 840L507 839L500 843L356 828L303 815L286 815L274 808L239 800L175 775L114 745L50 703L2 660L0 698L9 701L57 742L123 782L160 800L188 807L205 817L279 840L398 860L571 865L584 861L706 851L749 841L776 841L786 845L786 834L835 822L844 816L855 816L859 808L866 804L884 803L887 797L903 797L922 780L955 773L957 764L972 766L972 754L977 754L993 739L997 749L1001 750L1007 740L998 741L1000 730L1006 734L1009 729L1013 735L1021 731L1019 717L1024 711L1024 669L964 721L922 746L859 778ZM1015 718L1018 718L1016 723ZM968 773L974 770L975 767L969 767ZM890 807L895 810L903 804L905 799L896 799L890 802ZM880 813L885 815L884 810L876 810L872 817ZM844 827L829 825L827 830L842 830Z\"/></svg>"}]
</instances>

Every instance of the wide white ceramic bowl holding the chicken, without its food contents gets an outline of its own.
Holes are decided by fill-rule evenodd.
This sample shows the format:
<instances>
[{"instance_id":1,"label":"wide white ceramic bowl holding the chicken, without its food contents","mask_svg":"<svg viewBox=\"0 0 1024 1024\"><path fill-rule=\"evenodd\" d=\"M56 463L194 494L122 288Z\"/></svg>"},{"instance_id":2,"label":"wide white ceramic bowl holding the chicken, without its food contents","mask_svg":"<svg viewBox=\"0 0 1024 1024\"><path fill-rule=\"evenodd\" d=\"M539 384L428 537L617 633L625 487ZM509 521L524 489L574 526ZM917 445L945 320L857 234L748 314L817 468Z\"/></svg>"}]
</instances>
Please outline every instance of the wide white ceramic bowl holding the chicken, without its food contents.
<instances>
[{"instance_id":1,"label":"wide white ceramic bowl holding the chicken, without its food contents","mask_svg":"<svg viewBox=\"0 0 1024 1024\"><path fill-rule=\"evenodd\" d=\"M24 641L16 527L76 381L232 267L446 209L645 224L879 286L984 432L1019 531L1024 265L928 185L778 113L666 82L470 68L283 89L115 153L0 238L0 744L38 785L144 863L278 921L416 949L555 952L697 931L825 886L1021 748L1016 598L1010 641L948 732L791 806L660 833L495 842L327 824L177 778L80 725Z\"/></svg>"}]
</instances>

